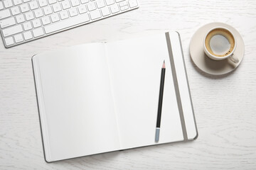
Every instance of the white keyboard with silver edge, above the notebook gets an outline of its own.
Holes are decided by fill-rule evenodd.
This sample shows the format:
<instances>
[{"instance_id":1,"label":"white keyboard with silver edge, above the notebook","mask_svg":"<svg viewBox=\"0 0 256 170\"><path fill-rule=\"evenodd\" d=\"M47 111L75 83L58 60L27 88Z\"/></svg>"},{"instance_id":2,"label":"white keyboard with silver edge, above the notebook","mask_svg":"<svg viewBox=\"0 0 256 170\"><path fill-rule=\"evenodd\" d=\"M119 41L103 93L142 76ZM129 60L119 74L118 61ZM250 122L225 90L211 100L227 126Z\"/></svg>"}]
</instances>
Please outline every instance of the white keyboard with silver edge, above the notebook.
<instances>
[{"instance_id":1,"label":"white keyboard with silver edge, above the notebook","mask_svg":"<svg viewBox=\"0 0 256 170\"><path fill-rule=\"evenodd\" d=\"M137 0L0 0L0 30L13 47L138 8Z\"/></svg>"}]
</instances>

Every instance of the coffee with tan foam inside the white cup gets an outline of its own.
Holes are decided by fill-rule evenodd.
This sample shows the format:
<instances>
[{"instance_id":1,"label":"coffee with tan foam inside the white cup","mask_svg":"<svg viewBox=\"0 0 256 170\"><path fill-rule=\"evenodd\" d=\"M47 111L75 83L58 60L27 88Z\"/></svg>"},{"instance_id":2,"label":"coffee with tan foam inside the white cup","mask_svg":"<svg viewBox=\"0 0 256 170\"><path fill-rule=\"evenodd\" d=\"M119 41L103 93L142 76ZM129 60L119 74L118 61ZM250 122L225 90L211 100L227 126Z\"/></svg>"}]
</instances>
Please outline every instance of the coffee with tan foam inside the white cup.
<instances>
[{"instance_id":1,"label":"coffee with tan foam inside the white cup","mask_svg":"<svg viewBox=\"0 0 256 170\"><path fill-rule=\"evenodd\" d=\"M224 28L215 28L206 35L206 49L215 57L230 55L235 48L235 38Z\"/></svg>"}]
</instances>

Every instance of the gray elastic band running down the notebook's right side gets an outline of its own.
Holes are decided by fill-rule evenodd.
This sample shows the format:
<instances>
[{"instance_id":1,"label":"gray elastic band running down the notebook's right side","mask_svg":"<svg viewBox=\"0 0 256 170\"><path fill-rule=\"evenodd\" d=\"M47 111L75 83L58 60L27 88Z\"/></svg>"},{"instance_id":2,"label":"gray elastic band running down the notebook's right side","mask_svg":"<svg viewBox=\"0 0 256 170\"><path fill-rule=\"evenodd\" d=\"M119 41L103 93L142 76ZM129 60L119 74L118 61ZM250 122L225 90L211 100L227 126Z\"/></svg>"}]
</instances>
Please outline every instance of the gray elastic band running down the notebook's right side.
<instances>
[{"instance_id":1,"label":"gray elastic band running down the notebook's right side","mask_svg":"<svg viewBox=\"0 0 256 170\"><path fill-rule=\"evenodd\" d=\"M166 42L167 42L167 47L168 47L168 52L169 52L169 57L170 57L170 62L171 62L171 73L172 73L173 79L174 79L174 88L175 88L175 92L176 92L176 100L178 103L178 112L179 112L180 118L181 118L181 128L182 128L182 132L183 132L183 138L184 138L184 140L188 140L188 134L186 132L186 124L185 124L183 109L182 109L182 105L181 105L181 96L180 96L179 89L178 89L178 79L177 79L176 69L175 69L175 65L174 65L174 55L173 55L172 49L171 49L171 40L170 40L169 33L166 33Z\"/></svg>"}]
</instances>

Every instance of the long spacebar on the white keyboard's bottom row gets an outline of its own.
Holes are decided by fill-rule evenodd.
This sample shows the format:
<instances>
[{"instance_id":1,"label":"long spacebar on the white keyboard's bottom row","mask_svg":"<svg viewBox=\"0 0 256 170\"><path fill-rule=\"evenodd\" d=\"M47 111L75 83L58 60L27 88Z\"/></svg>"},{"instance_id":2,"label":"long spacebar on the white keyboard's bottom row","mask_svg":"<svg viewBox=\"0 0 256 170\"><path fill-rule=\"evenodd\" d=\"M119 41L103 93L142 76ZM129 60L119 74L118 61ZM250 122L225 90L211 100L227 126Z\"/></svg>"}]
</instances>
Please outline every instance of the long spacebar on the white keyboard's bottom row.
<instances>
[{"instance_id":1,"label":"long spacebar on the white keyboard's bottom row","mask_svg":"<svg viewBox=\"0 0 256 170\"><path fill-rule=\"evenodd\" d=\"M90 21L90 18L87 13L84 13L84 14L80 14L79 16L62 20L58 23L52 23L51 25L45 26L44 28L46 30L46 33L48 34L48 33L53 33L57 30L62 30L65 28L69 28L71 26L78 25L80 23L85 23L87 21Z\"/></svg>"}]
</instances>

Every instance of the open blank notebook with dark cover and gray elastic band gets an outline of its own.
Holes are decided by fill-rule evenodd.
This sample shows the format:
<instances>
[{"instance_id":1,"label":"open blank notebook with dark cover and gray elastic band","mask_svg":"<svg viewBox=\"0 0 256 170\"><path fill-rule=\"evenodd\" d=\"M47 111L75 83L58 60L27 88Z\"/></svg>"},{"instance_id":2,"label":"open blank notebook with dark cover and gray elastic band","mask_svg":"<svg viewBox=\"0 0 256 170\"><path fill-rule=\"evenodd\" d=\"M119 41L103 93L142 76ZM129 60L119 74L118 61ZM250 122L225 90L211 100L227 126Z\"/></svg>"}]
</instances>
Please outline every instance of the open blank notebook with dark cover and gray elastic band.
<instances>
[{"instance_id":1,"label":"open blank notebook with dark cover and gray elastic band","mask_svg":"<svg viewBox=\"0 0 256 170\"><path fill-rule=\"evenodd\" d=\"M78 45L35 55L32 62L46 162L197 137L176 32Z\"/></svg>"}]
</instances>

